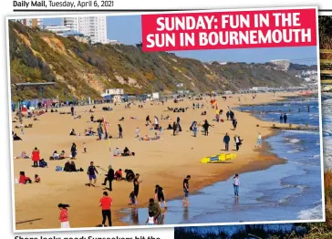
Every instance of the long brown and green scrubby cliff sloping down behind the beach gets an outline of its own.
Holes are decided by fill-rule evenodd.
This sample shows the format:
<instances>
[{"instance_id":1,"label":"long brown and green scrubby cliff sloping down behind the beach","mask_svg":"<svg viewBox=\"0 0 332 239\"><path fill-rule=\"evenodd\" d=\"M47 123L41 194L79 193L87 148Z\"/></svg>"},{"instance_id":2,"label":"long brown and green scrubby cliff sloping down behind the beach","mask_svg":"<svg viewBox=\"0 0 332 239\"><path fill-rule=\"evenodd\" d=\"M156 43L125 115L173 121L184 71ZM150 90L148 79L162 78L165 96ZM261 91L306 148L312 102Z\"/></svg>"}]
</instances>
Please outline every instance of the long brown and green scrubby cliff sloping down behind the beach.
<instances>
[{"instance_id":1,"label":"long brown and green scrubby cliff sloping down behind the beach","mask_svg":"<svg viewBox=\"0 0 332 239\"><path fill-rule=\"evenodd\" d=\"M99 99L107 88L124 88L125 93L169 94L177 90L177 83L194 92L206 92L299 86L303 82L268 64L222 65L166 52L144 53L135 46L91 46L16 22L9 22L9 37L12 84L56 82L55 87L45 89L45 98ZM38 92L14 90L13 100L21 98L38 98Z\"/></svg>"}]
</instances>

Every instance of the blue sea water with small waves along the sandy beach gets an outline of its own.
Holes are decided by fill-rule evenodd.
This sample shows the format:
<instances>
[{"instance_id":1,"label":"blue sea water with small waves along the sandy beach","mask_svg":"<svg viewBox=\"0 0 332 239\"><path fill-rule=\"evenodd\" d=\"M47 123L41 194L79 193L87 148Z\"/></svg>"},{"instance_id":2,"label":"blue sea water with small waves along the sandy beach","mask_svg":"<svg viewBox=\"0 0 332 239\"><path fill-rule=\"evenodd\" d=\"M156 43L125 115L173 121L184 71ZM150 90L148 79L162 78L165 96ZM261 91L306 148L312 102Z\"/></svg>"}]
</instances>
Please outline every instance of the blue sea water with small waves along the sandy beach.
<instances>
[{"instance_id":1,"label":"blue sea water with small waves along the sandy beach","mask_svg":"<svg viewBox=\"0 0 332 239\"><path fill-rule=\"evenodd\" d=\"M332 98L330 102L332 110ZM280 114L286 113L287 123L319 126L317 97L290 98L260 106L245 106L239 110L257 112L255 117L274 122L279 122ZM332 128L330 132L332 140ZM322 219L319 131L281 130L266 141L271 146L270 151L285 159L285 164L242 173L238 199L233 196L233 180L230 178L191 195L189 207L182 206L182 199L169 201L162 223L259 223ZM129 224L143 225L148 217L146 208L126 209L123 212L127 213L123 221Z\"/></svg>"}]
</instances>

